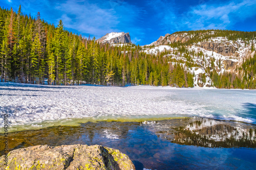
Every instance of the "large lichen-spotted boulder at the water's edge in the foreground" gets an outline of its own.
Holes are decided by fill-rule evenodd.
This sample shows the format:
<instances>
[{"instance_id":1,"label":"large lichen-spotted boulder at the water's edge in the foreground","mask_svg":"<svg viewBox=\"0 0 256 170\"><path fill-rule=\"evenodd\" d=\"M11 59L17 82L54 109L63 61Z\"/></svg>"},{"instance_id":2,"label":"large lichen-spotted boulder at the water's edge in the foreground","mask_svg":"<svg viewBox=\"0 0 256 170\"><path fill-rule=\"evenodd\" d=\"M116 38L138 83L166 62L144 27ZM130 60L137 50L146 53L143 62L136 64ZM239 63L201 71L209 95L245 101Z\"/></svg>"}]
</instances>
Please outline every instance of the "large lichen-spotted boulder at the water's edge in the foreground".
<instances>
[{"instance_id":1,"label":"large lichen-spotted boulder at the water's edge in the foreground","mask_svg":"<svg viewBox=\"0 0 256 170\"><path fill-rule=\"evenodd\" d=\"M0 169L133 169L128 156L101 145L37 145L13 150L0 157Z\"/></svg>"}]
</instances>

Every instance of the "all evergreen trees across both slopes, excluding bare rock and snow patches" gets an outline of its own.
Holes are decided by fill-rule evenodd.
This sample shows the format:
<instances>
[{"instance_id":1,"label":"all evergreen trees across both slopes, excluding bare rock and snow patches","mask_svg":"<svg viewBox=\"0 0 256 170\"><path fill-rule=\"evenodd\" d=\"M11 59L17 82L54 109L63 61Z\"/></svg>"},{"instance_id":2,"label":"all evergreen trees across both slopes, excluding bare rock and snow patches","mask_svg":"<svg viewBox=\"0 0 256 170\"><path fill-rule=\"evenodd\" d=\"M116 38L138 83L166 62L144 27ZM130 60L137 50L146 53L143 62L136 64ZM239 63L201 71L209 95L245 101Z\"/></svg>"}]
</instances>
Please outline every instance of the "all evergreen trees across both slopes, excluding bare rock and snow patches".
<instances>
[{"instance_id":1,"label":"all evergreen trees across both slopes, excluding bare rock and snow patches","mask_svg":"<svg viewBox=\"0 0 256 170\"><path fill-rule=\"evenodd\" d=\"M203 60L212 86L256 88L256 55L244 60L235 70L220 74L214 67L214 62L220 67L220 60L211 60L211 65L206 66L202 52L187 49L188 45L210 37L223 36L230 40L240 38L255 51L254 44L250 43L255 32L200 30L174 34L179 33L187 33L192 38L169 45L174 48L175 56L182 56L186 61L168 57L168 51L146 54L135 44L100 44L95 38L69 32L61 20L55 27L41 19L39 12L32 17L23 14L20 7L17 12L0 7L1 82L194 87L195 75L188 68L201 66L194 62L193 57L197 56Z\"/></svg>"}]
</instances>

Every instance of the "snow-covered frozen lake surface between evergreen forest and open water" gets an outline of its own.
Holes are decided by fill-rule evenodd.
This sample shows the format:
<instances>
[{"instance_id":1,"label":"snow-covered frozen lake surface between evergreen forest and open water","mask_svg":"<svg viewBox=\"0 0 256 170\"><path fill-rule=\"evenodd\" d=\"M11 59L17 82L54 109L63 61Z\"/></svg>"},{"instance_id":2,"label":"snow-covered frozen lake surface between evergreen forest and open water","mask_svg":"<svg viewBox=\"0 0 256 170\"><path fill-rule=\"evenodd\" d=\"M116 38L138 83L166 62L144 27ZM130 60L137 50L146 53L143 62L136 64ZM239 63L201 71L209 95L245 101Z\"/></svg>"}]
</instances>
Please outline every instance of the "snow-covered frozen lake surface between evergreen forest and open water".
<instances>
[{"instance_id":1,"label":"snow-covered frozen lake surface between evergreen forest and open water","mask_svg":"<svg viewBox=\"0 0 256 170\"><path fill-rule=\"evenodd\" d=\"M10 125L40 126L46 120L91 117L198 116L256 124L255 90L153 86L42 86L0 83L3 114Z\"/></svg>"}]
</instances>

